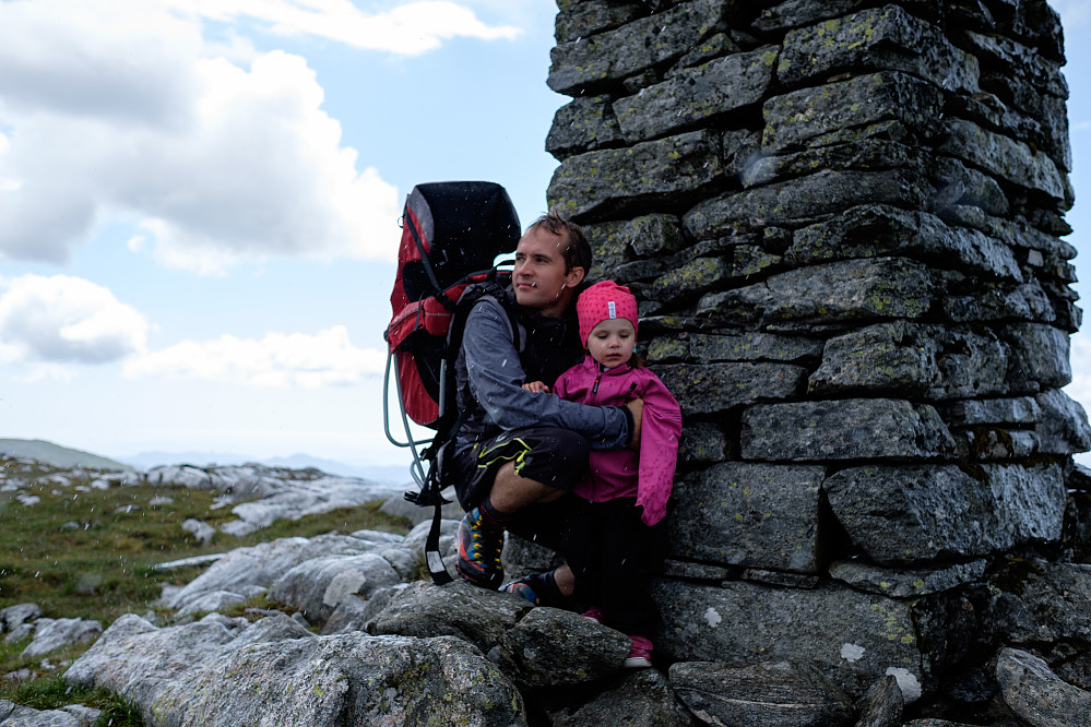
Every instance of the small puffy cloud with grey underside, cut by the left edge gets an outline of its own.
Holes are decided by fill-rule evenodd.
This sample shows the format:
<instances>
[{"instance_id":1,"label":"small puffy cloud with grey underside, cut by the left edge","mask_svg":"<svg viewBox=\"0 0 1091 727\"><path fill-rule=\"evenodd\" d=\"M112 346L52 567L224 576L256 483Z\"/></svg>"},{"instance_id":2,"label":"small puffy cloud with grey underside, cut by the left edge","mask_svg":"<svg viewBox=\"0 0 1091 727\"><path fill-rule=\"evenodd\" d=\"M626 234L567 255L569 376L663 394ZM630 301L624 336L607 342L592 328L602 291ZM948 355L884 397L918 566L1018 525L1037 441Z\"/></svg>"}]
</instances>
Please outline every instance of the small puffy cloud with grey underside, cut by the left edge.
<instances>
[{"instance_id":1,"label":"small puffy cloud with grey underside, cut by the left edge","mask_svg":"<svg viewBox=\"0 0 1091 727\"><path fill-rule=\"evenodd\" d=\"M147 321L108 289L68 275L23 275L0 295L0 361L32 378L59 366L107 364L144 350Z\"/></svg>"}]
</instances>

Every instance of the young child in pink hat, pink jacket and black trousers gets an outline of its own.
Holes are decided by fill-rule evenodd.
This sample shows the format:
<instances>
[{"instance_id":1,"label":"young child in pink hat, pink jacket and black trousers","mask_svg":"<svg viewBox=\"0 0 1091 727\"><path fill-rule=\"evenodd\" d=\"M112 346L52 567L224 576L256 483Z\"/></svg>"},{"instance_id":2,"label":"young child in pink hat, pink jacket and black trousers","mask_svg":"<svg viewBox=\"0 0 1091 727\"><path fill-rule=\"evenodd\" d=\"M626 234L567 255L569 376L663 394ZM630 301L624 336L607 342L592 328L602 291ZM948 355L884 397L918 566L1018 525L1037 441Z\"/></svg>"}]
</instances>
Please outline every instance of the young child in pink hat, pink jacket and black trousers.
<instances>
[{"instance_id":1,"label":"young child in pink hat, pink jacket and black trousers","mask_svg":"<svg viewBox=\"0 0 1091 727\"><path fill-rule=\"evenodd\" d=\"M666 514L681 433L681 410L659 377L633 358L637 299L612 281L592 285L576 302L586 358L560 376L553 393L598 406L640 398L639 453L592 452L562 553L576 575L576 597L589 618L632 639L627 667L651 666L656 609L648 592L660 553L654 528ZM541 382L530 391L548 391Z\"/></svg>"}]
</instances>

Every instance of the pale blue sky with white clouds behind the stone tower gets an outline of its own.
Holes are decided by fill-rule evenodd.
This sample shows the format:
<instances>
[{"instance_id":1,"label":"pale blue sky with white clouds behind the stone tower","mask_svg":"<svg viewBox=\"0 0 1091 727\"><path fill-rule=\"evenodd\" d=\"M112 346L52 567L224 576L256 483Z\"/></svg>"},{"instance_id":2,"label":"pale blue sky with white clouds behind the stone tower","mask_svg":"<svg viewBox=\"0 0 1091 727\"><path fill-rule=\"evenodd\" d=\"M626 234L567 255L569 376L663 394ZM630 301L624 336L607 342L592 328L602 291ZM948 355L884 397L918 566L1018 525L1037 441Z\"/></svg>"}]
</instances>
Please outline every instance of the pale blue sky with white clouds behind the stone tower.
<instances>
[{"instance_id":1,"label":"pale blue sky with white clouds behind the stone tower","mask_svg":"<svg viewBox=\"0 0 1091 727\"><path fill-rule=\"evenodd\" d=\"M1051 4L1067 239L1091 281L1091 4ZM556 12L0 0L0 438L407 463L381 416L402 204L420 182L481 179L524 226L545 212L545 138L569 100L545 83ZM1091 409L1083 333L1072 369L1066 391Z\"/></svg>"}]
</instances>

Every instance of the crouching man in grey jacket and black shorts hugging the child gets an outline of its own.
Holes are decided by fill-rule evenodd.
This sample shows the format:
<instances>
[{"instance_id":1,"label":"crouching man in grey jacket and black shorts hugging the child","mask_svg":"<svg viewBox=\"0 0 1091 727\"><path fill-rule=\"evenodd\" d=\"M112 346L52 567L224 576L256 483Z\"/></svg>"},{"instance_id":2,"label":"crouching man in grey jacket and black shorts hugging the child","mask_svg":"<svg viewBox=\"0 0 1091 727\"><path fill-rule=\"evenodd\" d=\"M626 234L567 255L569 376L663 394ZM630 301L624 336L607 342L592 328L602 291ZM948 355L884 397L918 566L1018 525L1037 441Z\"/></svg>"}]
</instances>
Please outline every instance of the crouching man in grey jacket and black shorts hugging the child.
<instances>
[{"instance_id":1,"label":"crouching man in grey jacket and black shorts hugging the child","mask_svg":"<svg viewBox=\"0 0 1091 727\"><path fill-rule=\"evenodd\" d=\"M562 498L586 469L590 450L639 442L639 400L621 407L586 406L522 389L531 381L552 386L582 360L573 300L590 266L582 228L545 215L515 248L507 291L514 314L485 297L466 319L455 366L465 424L446 457L444 480L454 484L466 510L456 569L476 585L502 583L505 531L557 549ZM570 595L572 584L571 571L561 567L521 593L531 600L557 599Z\"/></svg>"}]
</instances>

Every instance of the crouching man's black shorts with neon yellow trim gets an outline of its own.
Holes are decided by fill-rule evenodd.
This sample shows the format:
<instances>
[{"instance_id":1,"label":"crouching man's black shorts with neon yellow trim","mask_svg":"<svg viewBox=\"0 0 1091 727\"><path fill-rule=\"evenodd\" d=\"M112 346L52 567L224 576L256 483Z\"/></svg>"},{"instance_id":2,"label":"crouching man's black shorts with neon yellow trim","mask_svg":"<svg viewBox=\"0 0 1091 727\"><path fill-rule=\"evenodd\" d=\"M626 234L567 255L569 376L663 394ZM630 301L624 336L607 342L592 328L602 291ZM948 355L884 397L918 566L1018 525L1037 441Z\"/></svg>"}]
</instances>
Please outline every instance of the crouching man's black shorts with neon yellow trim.
<instances>
[{"instance_id":1,"label":"crouching man's black shorts with neon yellow trim","mask_svg":"<svg viewBox=\"0 0 1091 727\"><path fill-rule=\"evenodd\" d=\"M583 436L557 427L526 427L501 432L473 445L456 449L443 462L443 480L454 485L463 510L481 504L493 489L500 467L513 462L515 474L570 492L588 469L591 448ZM529 540L556 549L562 526L561 500L523 508L508 529Z\"/></svg>"}]
</instances>

